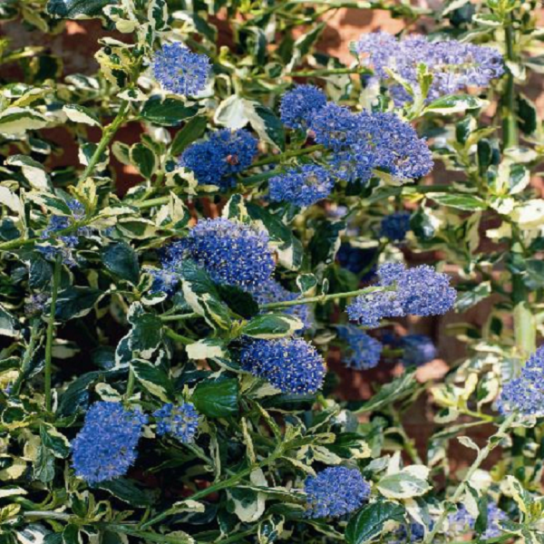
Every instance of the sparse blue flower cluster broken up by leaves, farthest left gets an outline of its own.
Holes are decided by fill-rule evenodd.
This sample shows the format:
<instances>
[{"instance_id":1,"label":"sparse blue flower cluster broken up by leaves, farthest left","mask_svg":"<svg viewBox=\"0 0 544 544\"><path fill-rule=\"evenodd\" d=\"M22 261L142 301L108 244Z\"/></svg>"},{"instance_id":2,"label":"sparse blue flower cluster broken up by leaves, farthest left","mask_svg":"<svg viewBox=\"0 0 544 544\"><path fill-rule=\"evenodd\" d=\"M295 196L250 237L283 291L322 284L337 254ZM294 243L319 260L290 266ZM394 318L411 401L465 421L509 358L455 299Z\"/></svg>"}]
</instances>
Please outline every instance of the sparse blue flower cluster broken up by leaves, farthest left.
<instances>
[{"instance_id":1,"label":"sparse blue flower cluster broken up by leaves, farthest left","mask_svg":"<svg viewBox=\"0 0 544 544\"><path fill-rule=\"evenodd\" d=\"M79 227L72 234L65 234L61 236L55 236L55 234L65 228L73 226L75 221L79 221L85 217L85 208L83 204L75 199L69 199L66 201L68 208L72 211L71 216L58 216L53 215L49 219L49 224L44 228L41 238L46 240L48 238L54 238L55 241L62 242L61 246L38 246L38 250L46 258L55 258L57 254L61 254L63 257L63 263L68 267L74 267L76 265L73 257L73 248L75 248L79 242L80 237L89 237L92 233L92 228Z\"/></svg>"}]
</instances>

